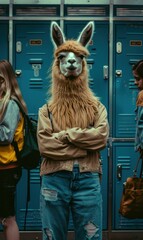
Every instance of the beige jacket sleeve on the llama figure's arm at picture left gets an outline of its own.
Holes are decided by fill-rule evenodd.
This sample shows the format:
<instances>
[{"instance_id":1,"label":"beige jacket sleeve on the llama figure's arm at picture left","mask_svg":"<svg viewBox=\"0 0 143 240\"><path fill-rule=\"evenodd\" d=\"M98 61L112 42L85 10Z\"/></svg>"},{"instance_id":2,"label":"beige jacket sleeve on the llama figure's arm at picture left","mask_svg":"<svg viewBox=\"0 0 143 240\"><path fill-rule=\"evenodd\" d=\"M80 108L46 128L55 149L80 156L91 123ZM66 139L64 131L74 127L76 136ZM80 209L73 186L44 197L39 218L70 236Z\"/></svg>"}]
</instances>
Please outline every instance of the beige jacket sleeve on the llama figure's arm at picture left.
<instances>
[{"instance_id":1,"label":"beige jacket sleeve on the llama figure's arm at picture left","mask_svg":"<svg viewBox=\"0 0 143 240\"><path fill-rule=\"evenodd\" d=\"M69 141L63 142L58 134L65 134L65 131L52 133L51 122L48 116L39 109L37 139L38 146L42 156L53 160L69 160L81 158L87 155L87 151L76 147Z\"/></svg>"}]
</instances>

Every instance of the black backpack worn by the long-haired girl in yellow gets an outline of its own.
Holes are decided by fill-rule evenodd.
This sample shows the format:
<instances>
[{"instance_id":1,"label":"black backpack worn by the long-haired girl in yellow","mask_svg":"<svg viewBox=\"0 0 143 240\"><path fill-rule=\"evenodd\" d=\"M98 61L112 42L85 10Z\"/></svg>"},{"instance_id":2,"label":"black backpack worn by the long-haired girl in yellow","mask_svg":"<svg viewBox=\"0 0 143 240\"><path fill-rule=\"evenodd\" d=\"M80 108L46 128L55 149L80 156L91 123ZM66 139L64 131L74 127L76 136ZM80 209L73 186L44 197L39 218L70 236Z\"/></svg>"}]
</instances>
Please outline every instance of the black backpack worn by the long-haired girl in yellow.
<instances>
[{"instance_id":1,"label":"black backpack worn by the long-haired girl in yellow","mask_svg":"<svg viewBox=\"0 0 143 240\"><path fill-rule=\"evenodd\" d=\"M16 152L19 164L31 170L38 167L40 163L40 152L37 143L37 120L30 118L23 110L21 104L13 99L19 106L24 117L24 145L21 151L18 149L18 144L13 140L12 145Z\"/></svg>"}]
</instances>

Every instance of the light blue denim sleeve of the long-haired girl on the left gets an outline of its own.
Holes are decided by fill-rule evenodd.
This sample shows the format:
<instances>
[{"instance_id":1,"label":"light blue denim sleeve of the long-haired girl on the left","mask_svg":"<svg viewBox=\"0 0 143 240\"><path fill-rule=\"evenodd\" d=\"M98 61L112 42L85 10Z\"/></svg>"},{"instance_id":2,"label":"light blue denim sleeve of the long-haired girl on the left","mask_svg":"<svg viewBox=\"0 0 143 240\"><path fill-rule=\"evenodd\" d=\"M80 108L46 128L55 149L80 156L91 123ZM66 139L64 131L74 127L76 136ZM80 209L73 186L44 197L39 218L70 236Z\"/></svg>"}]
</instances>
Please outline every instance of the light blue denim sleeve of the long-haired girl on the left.
<instances>
[{"instance_id":1,"label":"light blue denim sleeve of the long-haired girl on the left","mask_svg":"<svg viewBox=\"0 0 143 240\"><path fill-rule=\"evenodd\" d=\"M12 142L19 120L19 107L13 100L10 100L0 122L0 145L9 145Z\"/></svg>"}]
</instances>

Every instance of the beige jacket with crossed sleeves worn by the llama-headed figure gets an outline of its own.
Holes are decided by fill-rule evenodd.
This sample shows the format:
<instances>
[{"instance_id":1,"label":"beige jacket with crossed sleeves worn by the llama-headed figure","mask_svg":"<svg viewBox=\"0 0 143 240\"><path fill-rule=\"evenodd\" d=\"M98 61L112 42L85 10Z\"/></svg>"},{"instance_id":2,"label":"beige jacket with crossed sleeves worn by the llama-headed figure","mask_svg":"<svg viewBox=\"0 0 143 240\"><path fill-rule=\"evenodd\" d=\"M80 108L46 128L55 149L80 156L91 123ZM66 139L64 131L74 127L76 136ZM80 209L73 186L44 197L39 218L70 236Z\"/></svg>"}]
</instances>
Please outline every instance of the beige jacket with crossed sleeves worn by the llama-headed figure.
<instances>
[{"instance_id":1,"label":"beige jacket with crossed sleeves worn by the llama-headed figure","mask_svg":"<svg viewBox=\"0 0 143 240\"><path fill-rule=\"evenodd\" d=\"M72 171L78 161L81 172L101 172L99 151L106 146L108 138L107 111L99 105L99 117L93 127L78 127L60 131L54 119L53 129L48 117L47 105L39 109L38 145L43 161L40 175L67 170Z\"/></svg>"}]
</instances>

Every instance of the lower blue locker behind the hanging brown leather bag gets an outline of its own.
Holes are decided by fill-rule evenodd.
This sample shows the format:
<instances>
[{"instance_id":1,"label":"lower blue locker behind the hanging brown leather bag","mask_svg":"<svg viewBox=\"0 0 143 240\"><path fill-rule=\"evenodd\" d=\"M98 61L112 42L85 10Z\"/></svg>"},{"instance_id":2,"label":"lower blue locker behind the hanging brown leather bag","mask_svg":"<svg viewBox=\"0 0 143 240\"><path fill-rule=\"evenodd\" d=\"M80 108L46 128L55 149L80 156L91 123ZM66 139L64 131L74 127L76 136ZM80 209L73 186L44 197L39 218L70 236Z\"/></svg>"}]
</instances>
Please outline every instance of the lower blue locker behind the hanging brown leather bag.
<instances>
[{"instance_id":1,"label":"lower blue locker behind the hanging brown leather bag","mask_svg":"<svg viewBox=\"0 0 143 240\"><path fill-rule=\"evenodd\" d=\"M138 153L134 151L134 143L113 144L113 229L136 230L143 229L143 219L127 219L119 214L120 200L123 183L126 178L133 175L133 169L138 159ZM118 174L119 168L121 169Z\"/></svg>"}]
</instances>

